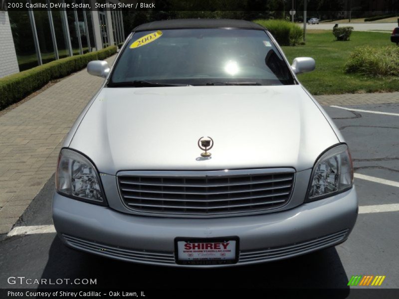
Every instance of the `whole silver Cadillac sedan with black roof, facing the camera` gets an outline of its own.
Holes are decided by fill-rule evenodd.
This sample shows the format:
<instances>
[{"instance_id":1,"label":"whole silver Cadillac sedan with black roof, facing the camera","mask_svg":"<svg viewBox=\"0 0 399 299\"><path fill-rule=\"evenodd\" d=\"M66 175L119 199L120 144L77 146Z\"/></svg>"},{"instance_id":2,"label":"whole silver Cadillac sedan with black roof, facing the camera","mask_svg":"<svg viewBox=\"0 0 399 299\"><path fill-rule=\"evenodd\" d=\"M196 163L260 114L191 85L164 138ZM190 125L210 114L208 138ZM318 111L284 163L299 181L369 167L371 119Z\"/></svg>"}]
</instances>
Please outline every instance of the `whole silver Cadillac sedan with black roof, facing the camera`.
<instances>
[{"instance_id":1,"label":"whole silver Cadillac sedan with black roof, facing the camera","mask_svg":"<svg viewBox=\"0 0 399 299\"><path fill-rule=\"evenodd\" d=\"M347 144L264 27L147 23L66 137L53 221L71 248L178 267L275 261L344 242L358 201Z\"/></svg>"}]
</instances>

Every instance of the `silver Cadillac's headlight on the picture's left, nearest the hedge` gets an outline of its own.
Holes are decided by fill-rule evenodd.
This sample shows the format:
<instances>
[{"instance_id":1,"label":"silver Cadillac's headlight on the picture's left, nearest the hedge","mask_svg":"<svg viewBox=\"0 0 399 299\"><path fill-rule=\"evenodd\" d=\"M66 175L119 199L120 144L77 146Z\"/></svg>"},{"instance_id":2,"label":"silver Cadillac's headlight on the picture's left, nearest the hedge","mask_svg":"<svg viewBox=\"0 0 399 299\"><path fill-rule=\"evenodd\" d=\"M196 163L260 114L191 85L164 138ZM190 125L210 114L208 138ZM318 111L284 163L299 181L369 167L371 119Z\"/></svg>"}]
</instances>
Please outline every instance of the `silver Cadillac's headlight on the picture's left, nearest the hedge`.
<instances>
[{"instance_id":1,"label":"silver Cadillac's headlight on the picture's left, nearest the hedge","mask_svg":"<svg viewBox=\"0 0 399 299\"><path fill-rule=\"evenodd\" d=\"M72 198L105 204L96 167L84 155L61 149L55 177L57 192Z\"/></svg>"}]
</instances>

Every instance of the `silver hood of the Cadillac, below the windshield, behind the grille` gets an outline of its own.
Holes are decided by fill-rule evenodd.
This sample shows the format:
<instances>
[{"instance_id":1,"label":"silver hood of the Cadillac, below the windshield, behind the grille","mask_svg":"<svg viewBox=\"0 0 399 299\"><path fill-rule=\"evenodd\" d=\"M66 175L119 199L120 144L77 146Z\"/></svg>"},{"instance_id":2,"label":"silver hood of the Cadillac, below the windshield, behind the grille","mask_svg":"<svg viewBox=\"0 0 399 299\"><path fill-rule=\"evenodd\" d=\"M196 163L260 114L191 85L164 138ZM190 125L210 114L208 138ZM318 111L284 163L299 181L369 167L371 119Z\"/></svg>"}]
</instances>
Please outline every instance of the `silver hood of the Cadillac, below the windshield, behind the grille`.
<instances>
[{"instance_id":1,"label":"silver hood of the Cadillac, below the windshield, behind the grille","mask_svg":"<svg viewBox=\"0 0 399 299\"><path fill-rule=\"evenodd\" d=\"M201 157L198 140L214 141ZM339 140L300 85L103 88L69 145L100 172L311 168Z\"/></svg>"}]
</instances>

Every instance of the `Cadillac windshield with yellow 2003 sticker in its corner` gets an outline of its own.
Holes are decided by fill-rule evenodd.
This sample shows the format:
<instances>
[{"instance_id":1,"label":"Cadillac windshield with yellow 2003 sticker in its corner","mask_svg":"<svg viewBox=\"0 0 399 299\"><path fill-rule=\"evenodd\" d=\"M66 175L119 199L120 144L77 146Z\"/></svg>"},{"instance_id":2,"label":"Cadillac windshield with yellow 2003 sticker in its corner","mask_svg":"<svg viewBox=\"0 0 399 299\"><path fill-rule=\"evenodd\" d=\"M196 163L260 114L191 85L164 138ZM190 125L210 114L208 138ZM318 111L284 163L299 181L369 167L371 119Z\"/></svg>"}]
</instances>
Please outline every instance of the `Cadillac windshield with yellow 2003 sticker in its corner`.
<instances>
[{"instance_id":1,"label":"Cadillac windshield with yellow 2003 sticker in its corner","mask_svg":"<svg viewBox=\"0 0 399 299\"><path fill-rule=\"evenodd\" d=\"M294 78L262 30L169 29L135 33L108 86L288 84Z\"/></svg>"}]
</instances>

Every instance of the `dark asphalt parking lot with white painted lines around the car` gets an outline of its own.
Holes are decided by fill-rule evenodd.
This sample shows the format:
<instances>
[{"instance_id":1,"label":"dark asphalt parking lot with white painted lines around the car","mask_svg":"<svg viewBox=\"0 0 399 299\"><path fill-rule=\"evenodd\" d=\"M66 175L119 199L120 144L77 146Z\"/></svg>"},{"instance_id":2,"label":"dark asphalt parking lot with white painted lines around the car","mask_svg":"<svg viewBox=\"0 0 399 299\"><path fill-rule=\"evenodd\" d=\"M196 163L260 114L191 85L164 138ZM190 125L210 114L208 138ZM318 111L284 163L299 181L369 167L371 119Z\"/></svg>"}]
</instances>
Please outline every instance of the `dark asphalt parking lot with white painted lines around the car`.
<instances>
[{"instance_id":1,"label":"dark asphalt parking lot with white painted lines around the car","mask_svg":"<svg viewBox=\"0 0 399 299\"><path fill-rule=\"evenodd\" d=\"M346 297L348 281L356 275L383 275L386 279L378 288L399 288L399 104L345 107L357 111L325 109L351 149L360 214L349 239L336 248L257 266L187 270L124 263L73 251L51 232L15 235L0 242L0 288L32 287L9 285L10 276L97 279L93 288L198 288L200 280L202 288L342 288ZM47 182L17 226L52 224L53 181Z\"/></svg>"}]
</instances>

